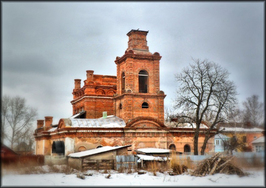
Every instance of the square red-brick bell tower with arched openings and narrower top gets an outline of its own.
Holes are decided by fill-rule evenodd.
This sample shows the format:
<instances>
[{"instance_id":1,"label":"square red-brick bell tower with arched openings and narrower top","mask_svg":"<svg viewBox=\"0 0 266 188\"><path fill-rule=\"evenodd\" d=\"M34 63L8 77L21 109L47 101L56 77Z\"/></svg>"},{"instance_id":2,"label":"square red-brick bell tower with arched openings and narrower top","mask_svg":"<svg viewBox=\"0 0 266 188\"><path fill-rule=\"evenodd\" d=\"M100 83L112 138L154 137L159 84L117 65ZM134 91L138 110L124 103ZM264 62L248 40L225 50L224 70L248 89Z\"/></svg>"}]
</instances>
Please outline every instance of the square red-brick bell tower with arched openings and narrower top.
<instances>
[{"instance_id":1,"label":"square red-brick bell tower with arched openings and narrower top","mask_svg":"<svg viewBox=\"0 0 266 188\"><path fill-rule=\"evenodd\" d=\"M114 95L114 115L129 123L138 117L149 117L164 123L164 98L160 91L160 60L151 53L146 36L149 31L132 29L128 48L116 57L117 92Z\"/></svg>"}]
</instances>

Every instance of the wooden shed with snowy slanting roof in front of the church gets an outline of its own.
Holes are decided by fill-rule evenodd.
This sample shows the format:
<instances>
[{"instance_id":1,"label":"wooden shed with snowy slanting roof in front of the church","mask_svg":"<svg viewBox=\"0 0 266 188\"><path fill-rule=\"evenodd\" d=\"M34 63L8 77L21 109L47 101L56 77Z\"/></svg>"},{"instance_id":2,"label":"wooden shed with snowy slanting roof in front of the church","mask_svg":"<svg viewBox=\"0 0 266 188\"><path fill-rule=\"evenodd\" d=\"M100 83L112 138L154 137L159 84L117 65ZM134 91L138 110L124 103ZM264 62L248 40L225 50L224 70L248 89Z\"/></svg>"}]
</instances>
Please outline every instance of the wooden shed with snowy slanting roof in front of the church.
<instances>
[{"instance_id":1,"label":"wooden shed with snowy slanting roof in front of the church","mask_svg":"<svg viewBox=\"0 0 266 188\"><path fill-rule=\"evenodd\" d=\"M77 170L116 170L116 156L127 155L126 146L105 146L68 155L68 165Z\"/></svg>"}]
</instances>

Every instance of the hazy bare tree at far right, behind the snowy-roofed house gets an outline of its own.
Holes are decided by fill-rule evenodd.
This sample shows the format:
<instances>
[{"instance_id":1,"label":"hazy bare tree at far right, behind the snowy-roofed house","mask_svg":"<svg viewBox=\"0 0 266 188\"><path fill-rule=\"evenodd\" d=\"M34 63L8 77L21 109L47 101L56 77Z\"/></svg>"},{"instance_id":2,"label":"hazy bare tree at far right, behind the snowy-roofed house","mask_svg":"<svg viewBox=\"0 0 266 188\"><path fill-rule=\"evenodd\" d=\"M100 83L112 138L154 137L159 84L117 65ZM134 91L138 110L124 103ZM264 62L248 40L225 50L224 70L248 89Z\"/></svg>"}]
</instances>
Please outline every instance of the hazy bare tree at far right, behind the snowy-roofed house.
<instances>
[{"instance_id":1,"label":"hazy bare tree at far right, behind the snowy-roofed house","mask_svg":"<svg viewBox=\"0 0 266 188\"><path fill-rule=\"evenodd\" d=\"M244 116L252 126L263 126L263 103L258 101L258 95L252 95L243 102Z\"/></svg>"}]
</instances>

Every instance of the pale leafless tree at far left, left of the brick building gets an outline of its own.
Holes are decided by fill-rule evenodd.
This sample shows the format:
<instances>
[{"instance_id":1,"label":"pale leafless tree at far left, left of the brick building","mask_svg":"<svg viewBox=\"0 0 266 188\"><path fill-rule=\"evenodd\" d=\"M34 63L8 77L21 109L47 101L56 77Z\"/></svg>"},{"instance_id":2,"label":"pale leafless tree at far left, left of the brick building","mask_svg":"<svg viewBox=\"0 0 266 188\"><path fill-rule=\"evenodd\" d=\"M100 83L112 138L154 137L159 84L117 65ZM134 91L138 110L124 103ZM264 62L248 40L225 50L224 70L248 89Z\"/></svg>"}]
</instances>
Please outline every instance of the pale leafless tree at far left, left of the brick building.
<instances>
[{"instance_id":1,"label":"pale leafless tree at far left, left of the brick building","mask_svg":"<svg viewBox=\"0 0 266 188\"><path fill-rule=\"evenodd\" d=\"M21 137L21 133L32 125L37 116L37 109L26 106L26 99L19 96L10 98L5 95L2 101L7 108L1 107L1 118L4 121L3 127L1 121L1 130L4 128L3 133L11 142L11 149L13 149L13 144Z\"/></svg>"}]
</instances>

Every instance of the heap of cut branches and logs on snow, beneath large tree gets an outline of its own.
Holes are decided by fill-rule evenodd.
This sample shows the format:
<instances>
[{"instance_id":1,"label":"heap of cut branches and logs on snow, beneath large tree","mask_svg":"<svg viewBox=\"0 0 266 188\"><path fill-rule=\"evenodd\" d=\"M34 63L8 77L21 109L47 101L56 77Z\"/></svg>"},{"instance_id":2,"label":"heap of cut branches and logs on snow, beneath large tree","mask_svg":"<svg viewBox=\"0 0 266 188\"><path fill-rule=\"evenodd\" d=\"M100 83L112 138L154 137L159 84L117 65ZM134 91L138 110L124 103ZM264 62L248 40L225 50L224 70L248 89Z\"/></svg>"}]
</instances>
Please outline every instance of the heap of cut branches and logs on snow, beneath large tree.
<instances>
[{"instance_id":1,"label":"heap of cut branches and logs on snow, beneath large tree","mask_svg":"<svg viewBox=\"0 0 266 188\"><path fill-rule=\"evenodd\" d=\"M231 160L233 156L227 155L223 156L219 152L212 157L203 160L197 165L197 168L190 174L194 176L205 176L213 175L216 173L221 174L235 174L240 177L248 175L248 173L243 172L240 168L235 166Z\"/></svg>"}]
</instances>

